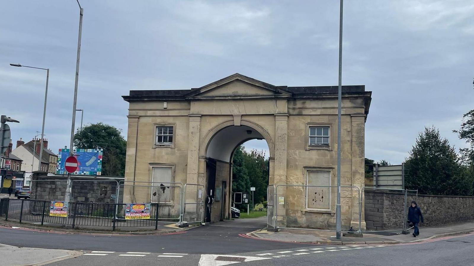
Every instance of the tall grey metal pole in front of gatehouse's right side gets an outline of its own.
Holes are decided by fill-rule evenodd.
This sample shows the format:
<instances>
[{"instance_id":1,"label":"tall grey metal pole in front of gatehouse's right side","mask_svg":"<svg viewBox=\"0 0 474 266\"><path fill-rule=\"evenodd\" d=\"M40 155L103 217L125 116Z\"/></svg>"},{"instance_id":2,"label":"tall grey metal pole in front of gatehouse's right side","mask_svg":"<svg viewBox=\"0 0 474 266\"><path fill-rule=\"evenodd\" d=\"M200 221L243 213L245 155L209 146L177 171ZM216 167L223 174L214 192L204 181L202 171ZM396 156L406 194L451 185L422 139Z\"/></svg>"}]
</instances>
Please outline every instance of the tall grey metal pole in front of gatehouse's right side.
<instances>
[{"instance_id":1,"label":"tall grey metal pole in front of gatehouse's right side","mask_svg":"<svg viewBox=\"0 0 474 266\"><path fill-rule=\"evenodd\" d=\"M337 205L336 205L336 239L341 239L341 109L342 109L342 10L339 12L339 84L337 88Z\"/></svg>"}]
</instances>

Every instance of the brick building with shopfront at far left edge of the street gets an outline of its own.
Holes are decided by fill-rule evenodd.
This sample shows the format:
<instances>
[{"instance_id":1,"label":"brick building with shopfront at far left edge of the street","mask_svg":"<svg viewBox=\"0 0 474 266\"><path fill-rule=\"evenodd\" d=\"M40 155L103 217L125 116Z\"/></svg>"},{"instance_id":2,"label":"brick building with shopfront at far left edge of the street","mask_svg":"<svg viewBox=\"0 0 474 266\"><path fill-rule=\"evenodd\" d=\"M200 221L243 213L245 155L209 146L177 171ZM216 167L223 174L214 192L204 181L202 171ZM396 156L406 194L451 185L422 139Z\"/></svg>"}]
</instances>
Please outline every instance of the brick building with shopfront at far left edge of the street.
<instances>
[{"instance_id":1,"label":"brick building with shopfront at far left edge of the street","mask_svg":"<svg viewBox=\"0 0 474 266\"><path fill-rule=\"evenodd\" d=\"M8 188L19 189L23 186L25 172L21 170L23 160L12 154L13 144L1 155L0 160L0 192L8 193Z\"/></svg>"}]
</instances>

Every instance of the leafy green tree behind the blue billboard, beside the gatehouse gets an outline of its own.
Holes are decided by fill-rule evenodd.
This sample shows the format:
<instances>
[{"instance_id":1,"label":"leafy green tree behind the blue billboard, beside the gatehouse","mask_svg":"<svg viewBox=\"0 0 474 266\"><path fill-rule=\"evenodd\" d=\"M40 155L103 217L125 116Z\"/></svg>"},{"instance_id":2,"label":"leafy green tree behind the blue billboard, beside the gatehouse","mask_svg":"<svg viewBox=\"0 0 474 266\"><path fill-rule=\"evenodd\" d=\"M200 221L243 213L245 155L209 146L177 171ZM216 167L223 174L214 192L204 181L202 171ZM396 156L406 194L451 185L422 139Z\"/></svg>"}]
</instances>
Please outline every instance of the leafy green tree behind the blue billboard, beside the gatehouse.
<instances>
[{"instance_id":1,"label":"leafy green tree behind the blue billboard, beside the gatehouse","mask_svg":"<svg viewBox=\"0 0 474 266\"><path fill-rule=\"evenodd\" d=\"M123 177L127 141L121 133L121 129L101 122L86 125L74 134L74 146L77 149L103 149L102 175Z\"/></svg>"}]
</instances>

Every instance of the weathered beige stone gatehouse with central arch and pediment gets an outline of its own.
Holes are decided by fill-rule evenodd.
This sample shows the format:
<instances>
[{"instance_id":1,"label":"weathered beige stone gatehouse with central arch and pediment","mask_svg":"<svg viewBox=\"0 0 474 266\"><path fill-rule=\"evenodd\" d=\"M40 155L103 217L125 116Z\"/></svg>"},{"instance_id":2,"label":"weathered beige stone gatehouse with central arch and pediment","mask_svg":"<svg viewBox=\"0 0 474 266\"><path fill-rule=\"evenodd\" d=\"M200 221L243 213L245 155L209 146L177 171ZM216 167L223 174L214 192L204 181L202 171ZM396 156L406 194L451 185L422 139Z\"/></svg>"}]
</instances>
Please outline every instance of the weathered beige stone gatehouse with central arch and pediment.
<instances>
[{"instance_id":1,"label":"weathered beige stone gatehouse with central arch and pediment","mask_svg":"<svg viewBox=\"0 0 474 266\"><path fill-rule=\"evenodd\" d=\"M372 92L363 85L342 91L341 185L362 187ZM268 144L270 185L337 184L337 86L274 86L236 73L200 88L131 90L123 98L129 103L126 180L203 185L203 195L194 196L210 203L209 222L229 218L232 157L248 140ZM333 226L336 190L314 191L317 201L307 190L279 187L279 224ZM178 190L168 191L160 199L150 187L127 186L124 202L159 201L179 208ZM343 226L358 224L357 193L341 194Z\"/></svg>"}]
</instances>

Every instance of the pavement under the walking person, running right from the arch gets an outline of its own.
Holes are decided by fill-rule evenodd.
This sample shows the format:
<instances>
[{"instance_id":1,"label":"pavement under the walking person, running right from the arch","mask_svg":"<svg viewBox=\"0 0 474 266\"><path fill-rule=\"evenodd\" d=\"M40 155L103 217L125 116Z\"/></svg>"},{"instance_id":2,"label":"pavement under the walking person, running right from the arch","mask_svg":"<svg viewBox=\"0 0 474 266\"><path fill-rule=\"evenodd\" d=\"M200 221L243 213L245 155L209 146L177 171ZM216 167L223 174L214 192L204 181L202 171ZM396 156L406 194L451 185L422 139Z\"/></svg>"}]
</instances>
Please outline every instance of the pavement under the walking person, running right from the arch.
<instances>
[{"instance_id":1,"label":"pavement under the walking person, running right from the arch","mask_svg":"<svg viewBox=\"0 0 474 266\"><path fill-rule=\"evenodd\" d=\"M248 236L259 239L273 241L290 241L302 243L320 243L332 245L351 245L351 244L398 244L406 242L419 242L426 239L433 239L443 236L457 235L468 232L474 232L474 222L465 222L462 224L453 224L442 227L419 227L420 235L416 238L410 234L401 234L401 231L363 233L363 237L342 237L336 239L335 232L329 231L310 231L281 229L278 232L269 232L266 230L257 230L248 234Z\"/></svg>"}]
</instances>

